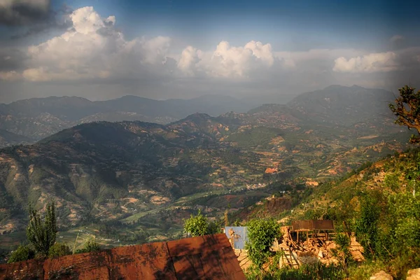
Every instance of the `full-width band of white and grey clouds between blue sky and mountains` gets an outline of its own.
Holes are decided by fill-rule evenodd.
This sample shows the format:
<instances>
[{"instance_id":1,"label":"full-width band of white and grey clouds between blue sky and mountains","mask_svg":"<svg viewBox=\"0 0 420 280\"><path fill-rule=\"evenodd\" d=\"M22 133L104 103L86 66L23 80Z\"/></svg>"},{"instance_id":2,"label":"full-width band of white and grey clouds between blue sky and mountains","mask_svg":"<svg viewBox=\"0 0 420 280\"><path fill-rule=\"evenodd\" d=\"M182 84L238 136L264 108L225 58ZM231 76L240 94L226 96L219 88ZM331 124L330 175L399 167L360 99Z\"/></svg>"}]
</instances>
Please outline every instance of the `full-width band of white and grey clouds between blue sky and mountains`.
<instances>
[{"instance_id":1,"label":"full-width band of white and grey clouds between blue sky and mountains","mask_svg":"<svg viewBox=\"0 0 420 280\"><path fill-rule=\"evenodd\" d=\"M168 97L205 89L290 93L331 84L384 85L393 81L385 79L386 74L399 71L400 81L405 71L419 69L419 48L378 53L355 49L276 52L268 42L237 46L221 41L210 50L188 45L175 53L172 39L166 36L127 40L116 29L118 18L99 15L92 7L71 11L68 20L71 26L48 41L0 49L0 80L25 80L31 83L22 84L32 88L64 82L78 88L106 84L101 92L111 84L123 85L130 87L126 93L141 89L151 94L167 92Z\"/></svg>"}]
</instances>

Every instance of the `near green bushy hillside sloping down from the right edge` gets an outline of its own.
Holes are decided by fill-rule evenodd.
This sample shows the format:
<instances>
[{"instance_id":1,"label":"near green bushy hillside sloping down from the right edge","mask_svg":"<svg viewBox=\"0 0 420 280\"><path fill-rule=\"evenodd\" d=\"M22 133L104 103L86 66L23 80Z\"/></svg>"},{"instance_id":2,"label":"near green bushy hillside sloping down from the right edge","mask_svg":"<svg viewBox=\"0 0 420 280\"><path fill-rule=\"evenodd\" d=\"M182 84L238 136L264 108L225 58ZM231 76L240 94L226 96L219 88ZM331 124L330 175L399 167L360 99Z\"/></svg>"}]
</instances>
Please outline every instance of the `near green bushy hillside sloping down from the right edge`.
<instances>
[{"instance_id":1,"label":"near green bushy hillside sloping down from the right edge","mask_svg":"<svg viewBox=\"0 0 420 280\"><path fill-rule=\"evenodd\" d=\"M235 224L274 218L289 226L292 221L332 220L335 232L356 235L363 246L365 261L346 264L349 279L369 279L379 270L393 279L406 279L409 269L420 266L419 162L420 148L413 148L367 162L319 186L282 186L272 197L229 218ZM305 234L300 238L306 240Z\"/></svg>"}]
</instances>

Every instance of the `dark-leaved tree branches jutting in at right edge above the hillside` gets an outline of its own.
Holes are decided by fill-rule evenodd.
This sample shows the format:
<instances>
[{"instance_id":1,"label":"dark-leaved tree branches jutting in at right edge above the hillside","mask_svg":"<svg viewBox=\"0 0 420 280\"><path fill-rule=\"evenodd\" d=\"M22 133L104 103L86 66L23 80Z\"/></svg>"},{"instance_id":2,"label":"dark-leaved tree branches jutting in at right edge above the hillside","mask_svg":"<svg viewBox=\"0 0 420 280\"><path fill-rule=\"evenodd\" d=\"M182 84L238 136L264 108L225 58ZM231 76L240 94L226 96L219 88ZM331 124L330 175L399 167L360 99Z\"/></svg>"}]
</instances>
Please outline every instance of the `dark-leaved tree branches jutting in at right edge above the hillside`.
<instances>
[{"instance_id":1,"label":"dark-leaved tree branches jutting in at right edge above the hillside","mask_svg":"<svg viewBox=\"0 0 420 280\"><path fill-rule=\"evenodd\" d=\"M405 85L399 89L400 96L395 99L395 104L389 104L389 109L397 116L395 123L405 125L408 129L414 128L420 134L420 91ZM419 135L412 135L409 140L412 144L419 144Z\"/></svg>"}]
</instances>

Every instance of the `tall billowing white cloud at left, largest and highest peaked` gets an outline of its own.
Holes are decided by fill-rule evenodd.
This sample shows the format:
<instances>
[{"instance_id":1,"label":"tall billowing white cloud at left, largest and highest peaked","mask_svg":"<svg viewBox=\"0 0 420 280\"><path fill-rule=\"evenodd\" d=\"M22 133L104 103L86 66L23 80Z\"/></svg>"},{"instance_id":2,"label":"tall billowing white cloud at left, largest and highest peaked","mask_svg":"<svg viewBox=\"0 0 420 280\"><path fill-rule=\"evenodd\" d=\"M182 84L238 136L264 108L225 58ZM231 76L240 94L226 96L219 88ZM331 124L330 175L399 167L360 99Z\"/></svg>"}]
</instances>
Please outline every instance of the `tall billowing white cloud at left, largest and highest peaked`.
<instances>
[{"instance_id":1,"label":"tall billowing white cloud at left, largest and highest peaked","mask_svg":"<svg viewBox=\"0 0 420 280\"><path fill-rule=\"evenodd\" d=\"M146 67L162 74L162 66L170 64L167 37L127 41L116 31L113 15L102 18L92 7L74 10L69 18L72 26L61 36L27 48L22 78L33 82L127 78L141 75Z\"/></svg>"}]
</instances>

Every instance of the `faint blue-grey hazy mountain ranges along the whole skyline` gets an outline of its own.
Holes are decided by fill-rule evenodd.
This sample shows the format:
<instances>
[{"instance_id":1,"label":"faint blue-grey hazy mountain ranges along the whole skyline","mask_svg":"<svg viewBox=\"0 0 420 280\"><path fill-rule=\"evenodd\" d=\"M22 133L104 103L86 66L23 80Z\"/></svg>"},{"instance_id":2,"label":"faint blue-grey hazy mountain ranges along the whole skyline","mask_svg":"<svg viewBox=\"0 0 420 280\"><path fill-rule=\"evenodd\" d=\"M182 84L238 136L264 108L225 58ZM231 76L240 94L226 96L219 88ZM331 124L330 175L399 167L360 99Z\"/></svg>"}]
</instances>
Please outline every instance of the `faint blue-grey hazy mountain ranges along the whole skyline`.
<instances>
[{"instance_id":1,"label":"faint blue-grey hazy mountain ranges along the whole skyline","mask_svg":"<svg viewBox=\"0 0 420 280\"><path fill-rule=\"evenodd\" d=\"M288 99L290 95L274 100L279 100L281 104ZM287 105L299 114L299 118L332 120L336 124L351 125L356 120L375 118L384 113L389 115L386 104L392 100L393 94L385 90L332 85L324 90L300 94ZM230 111L245 113L265 101L265 97L239 100L216 94L165 101L136 96L103 102L91 102L82 97L25 99L0 104L0 130L10 132L6 135L0 131L0 147L34 143L80 123L141 120L167 124L193 113L207 113L210 116Z\"/></svg>"}]
</instances>

